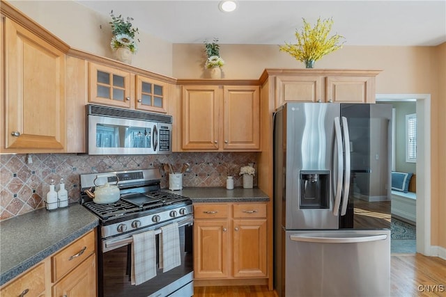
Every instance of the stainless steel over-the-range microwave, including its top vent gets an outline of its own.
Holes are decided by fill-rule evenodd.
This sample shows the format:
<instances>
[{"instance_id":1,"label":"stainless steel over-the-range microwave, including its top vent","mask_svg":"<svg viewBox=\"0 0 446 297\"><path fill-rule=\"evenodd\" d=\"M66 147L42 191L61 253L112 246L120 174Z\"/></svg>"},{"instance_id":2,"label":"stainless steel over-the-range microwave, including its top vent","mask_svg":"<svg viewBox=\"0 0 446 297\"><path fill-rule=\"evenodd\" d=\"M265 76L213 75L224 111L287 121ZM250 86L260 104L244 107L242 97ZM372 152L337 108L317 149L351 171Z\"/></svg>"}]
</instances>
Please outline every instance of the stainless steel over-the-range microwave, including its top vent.
<instances>
[{"instance_id":1,"label":"stainless steel over-the-range microwave, including its top vent","mask_svg":"<svg viewBox=\"0 0 446 297\"><path fill-rule=\"evenodd\" d=\"M172 117L86 105L89 154L170 154Z\"/></svg>"}]
</instances>

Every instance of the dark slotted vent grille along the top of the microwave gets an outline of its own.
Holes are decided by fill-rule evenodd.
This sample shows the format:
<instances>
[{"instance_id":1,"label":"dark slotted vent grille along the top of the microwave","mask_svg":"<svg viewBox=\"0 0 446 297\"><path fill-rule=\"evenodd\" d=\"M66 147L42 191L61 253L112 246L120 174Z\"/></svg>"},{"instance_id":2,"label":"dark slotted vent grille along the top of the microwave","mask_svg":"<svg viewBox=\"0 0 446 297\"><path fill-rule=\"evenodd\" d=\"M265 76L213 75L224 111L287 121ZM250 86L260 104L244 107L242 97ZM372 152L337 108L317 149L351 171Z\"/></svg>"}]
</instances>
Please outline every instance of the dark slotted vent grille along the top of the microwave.
<instances>
[{"instance_id":1,"label":"dark slotted vent grille along the top of the microwave","mask_svg":"<svg viewBox=\"0 0 446 297\"><path fill-rule=\"evenodd\" d=\"M161 115L144 111L131 111L129 109L118 109L116 107L87 104L87 115L102 115L112 118L125 118L129 120L145 120L147 122L172 123L171 115Z\"/></svg>"}]
</instances>

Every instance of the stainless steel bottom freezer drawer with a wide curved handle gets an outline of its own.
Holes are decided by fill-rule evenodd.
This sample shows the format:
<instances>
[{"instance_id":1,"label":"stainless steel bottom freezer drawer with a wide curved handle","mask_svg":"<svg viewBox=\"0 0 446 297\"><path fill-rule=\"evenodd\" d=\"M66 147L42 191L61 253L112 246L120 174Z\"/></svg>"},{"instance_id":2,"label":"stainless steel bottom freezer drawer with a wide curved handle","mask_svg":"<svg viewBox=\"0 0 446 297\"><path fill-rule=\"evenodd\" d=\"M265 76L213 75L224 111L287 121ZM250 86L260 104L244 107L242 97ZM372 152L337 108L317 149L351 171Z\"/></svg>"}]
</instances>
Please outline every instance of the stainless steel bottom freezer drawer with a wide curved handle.
<instances>
[{"instance_id":1,"label":"stainless steel bottom freezer drawer with a wide curved handle","mask_svg":"<svg viewBox=\"0 0 446 297\"><path fill-rule=\"evenodd\" d=\"M389 296L390 230L286 231L285 295Z\"/></svg>"}]
</instances>

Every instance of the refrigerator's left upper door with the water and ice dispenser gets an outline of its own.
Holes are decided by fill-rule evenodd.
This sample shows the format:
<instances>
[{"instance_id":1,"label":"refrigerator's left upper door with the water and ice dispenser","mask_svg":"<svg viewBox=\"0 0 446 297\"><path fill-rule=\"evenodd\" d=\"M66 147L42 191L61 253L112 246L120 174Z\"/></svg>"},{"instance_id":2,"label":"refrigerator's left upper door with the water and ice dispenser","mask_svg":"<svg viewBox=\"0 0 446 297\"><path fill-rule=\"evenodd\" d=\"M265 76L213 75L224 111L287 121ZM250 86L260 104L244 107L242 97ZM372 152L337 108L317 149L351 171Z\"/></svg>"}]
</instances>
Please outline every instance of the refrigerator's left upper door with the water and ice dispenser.
<instances>
[{"instance_id":1,"label":"refrigerator's left upper door with the water and ice dispenser","mask_svg":"<svg viewBox=\"0 0 446 297\"><path fill-rule=\"evenodd\" d=\"M288 103L283 113L283 136L276 143L281 145L276 155L282 154L277 170L284 170L284 175L279 173L285 179L279 193L285 201L284 226L338 229L339 200L335 205L334 198L341 194L342 141L335 122L340 121L340 104ZM339 145L334 147L335 143Z\"/></svg>"}]
</instances>

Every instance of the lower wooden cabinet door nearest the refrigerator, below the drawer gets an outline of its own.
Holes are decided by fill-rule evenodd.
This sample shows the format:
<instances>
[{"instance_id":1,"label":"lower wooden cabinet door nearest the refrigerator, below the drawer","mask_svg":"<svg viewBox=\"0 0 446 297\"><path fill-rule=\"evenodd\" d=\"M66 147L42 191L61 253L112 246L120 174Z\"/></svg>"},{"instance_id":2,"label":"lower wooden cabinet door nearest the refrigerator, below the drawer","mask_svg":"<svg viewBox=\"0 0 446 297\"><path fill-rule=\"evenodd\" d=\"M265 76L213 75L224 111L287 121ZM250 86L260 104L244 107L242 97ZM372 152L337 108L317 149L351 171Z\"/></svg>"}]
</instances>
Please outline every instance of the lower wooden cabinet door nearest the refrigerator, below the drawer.
<instances>
[{"instance_id":1,"label":"lower wooden cabinet door nearest the refrigerator, below the drawer","mask_svg":"<svg viewBox=\"0 0 446 297\"><path fill-rule=\"evenodd\" d=\"M266 219L233 220L233 276L266 276Z\"/></svg>"}]
</instances>

